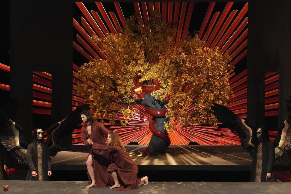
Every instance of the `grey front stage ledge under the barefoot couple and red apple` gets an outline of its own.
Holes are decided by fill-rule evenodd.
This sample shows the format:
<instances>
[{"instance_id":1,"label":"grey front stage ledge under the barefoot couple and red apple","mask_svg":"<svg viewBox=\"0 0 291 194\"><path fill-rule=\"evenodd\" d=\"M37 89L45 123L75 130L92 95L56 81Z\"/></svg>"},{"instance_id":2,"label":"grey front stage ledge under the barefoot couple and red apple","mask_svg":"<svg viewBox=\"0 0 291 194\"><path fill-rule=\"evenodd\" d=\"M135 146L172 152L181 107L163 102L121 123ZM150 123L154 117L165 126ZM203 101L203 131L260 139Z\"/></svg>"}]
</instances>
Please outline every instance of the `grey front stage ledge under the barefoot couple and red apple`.
<instances>
[{"instance_id":1,"label":"grey front stage ledge under the barefoot couple and red apple","mask_svg":"<svg viewBox=\"0 0 291 194\"><path fill-rule=\"evenodd\" d=\"M85 189L87 181L0 181L0 185L9 186L8 193L99 193L113 194L109 188ZM4 192L4 191L2 191ZM149 182L148 186L129 190L125 193L139 194L176 194L176 193L209 193L209 194L289 194L290 183L254 183L254 182Z\"/></svg>"}]
</instances>

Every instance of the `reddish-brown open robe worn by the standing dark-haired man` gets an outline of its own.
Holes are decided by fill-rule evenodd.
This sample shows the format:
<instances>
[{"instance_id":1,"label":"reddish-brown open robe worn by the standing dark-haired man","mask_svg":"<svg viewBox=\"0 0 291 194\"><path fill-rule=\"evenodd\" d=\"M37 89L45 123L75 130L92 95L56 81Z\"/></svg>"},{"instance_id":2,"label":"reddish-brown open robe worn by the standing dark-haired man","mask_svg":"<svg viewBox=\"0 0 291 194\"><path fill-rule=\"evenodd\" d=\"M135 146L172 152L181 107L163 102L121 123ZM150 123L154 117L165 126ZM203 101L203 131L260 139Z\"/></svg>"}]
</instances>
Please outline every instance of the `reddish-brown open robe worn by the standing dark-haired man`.
<instances>
[{"instance_id":1,"label":"reddish-brown open robe worn by the standing dark-haired man","mask_svg":"<svg viewBox=\"0 0 291 194\"><path fill-rule=\"evenodd\" d=\"M110 164L109 161L109 152L104 150L92 150L92 145L88 144L87 139L91 139L92 142L99 143L101 145L106 145L105 138L107 138L107 135L109 131L102 125L102 123L94 121L91 124L91 135L89 136L87 125L82 127L82 141L83 143L90 149L88 157L92 158L93 163L93 169L94 169L94 176L95 176L95 185L97 188L106 187L107 184L107 167ZM90 155L91 154L91 155ZM89 176L89 173L87 171L88 178L90 181L90 184L92 183L92 180Z\"/></svg>"}]
</instances>

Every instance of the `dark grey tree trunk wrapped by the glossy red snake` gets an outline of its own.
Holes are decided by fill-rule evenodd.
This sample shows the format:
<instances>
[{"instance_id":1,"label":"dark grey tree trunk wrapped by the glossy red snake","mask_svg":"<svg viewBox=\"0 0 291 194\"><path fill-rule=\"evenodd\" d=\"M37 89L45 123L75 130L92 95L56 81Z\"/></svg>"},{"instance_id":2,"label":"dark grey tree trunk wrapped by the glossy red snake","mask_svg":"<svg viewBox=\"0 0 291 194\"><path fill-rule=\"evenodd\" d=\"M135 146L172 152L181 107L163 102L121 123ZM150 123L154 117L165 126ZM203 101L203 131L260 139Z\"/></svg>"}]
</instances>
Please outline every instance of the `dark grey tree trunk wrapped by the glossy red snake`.
<instances>
[{"instance_id":1,"label":"dark grey tree trunk wrapped by the glossy red snake","mask_svg":"<svg viewBox=\"0 0 291 194\"><path fill-rule=\"evenodd\" d=\"M165 110L165 107L162 107L156 100L155 96L151 96L150 93L146 93L144 99L142 100L141 104L148 106L151 109L156 110ZM156 121L156 129L158 129L162 133L166 133L164 129L164 122L168 121L168 118L166 117L157 117L153 118ZM166 143L163 139L157 137L156 135L152 135L152 138L149 142L149 147L147 148L147 151L151 155L157 155L157 154L164 154L166 153Z\"/></svg>"}]
</instances>

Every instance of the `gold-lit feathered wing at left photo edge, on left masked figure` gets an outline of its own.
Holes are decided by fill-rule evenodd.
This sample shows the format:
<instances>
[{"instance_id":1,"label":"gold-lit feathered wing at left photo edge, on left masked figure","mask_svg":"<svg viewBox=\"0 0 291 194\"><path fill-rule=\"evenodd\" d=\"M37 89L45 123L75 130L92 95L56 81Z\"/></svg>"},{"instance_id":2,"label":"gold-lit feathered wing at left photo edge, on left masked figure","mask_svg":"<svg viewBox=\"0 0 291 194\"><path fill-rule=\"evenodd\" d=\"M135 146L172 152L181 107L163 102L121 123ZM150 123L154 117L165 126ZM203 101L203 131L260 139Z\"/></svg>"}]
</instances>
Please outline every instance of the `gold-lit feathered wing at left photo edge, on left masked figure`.
<instances>
[{"instance_id":1,"label":"gold-lit feathered wing at left photo edge, on left masked figure","mask_svg":"<svg viewBox=\"0 0 291 194\"><path fill-rule=\"evenodd\" d=\"M18 162L26 162L28 143L24 141L22 127L8 119L2 109L0 110L0 122L2 128L0 131L1 143L8 151L11 151L12 156Z\"/></svg>"}]
</instances>

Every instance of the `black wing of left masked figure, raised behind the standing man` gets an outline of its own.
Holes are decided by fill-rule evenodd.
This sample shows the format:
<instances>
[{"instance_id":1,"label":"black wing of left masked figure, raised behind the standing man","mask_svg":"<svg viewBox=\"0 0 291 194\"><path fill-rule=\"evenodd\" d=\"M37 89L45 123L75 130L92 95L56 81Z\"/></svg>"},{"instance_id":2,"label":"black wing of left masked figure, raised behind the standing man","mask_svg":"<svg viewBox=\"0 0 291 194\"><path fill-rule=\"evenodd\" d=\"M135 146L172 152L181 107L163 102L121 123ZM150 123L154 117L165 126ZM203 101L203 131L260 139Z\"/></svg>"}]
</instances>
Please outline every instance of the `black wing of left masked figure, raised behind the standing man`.
<instances>
[{"instance_id":1,"label":"black wing of left masked figure, raised behind the standing man","mask_svg":"<svg viewBox=\"0 0 291 194\"><path fill-rule=\"evenodd\" d=\"M89 105L85 104L76 108L69 116L60 122L52 125L48 130L47 144L50 156L55 157L62 148L67 146L65 139L71 135L72 131L81 123L80 114L88 110Z\"/></svg>"}]
</instances>

